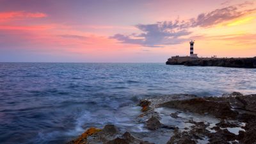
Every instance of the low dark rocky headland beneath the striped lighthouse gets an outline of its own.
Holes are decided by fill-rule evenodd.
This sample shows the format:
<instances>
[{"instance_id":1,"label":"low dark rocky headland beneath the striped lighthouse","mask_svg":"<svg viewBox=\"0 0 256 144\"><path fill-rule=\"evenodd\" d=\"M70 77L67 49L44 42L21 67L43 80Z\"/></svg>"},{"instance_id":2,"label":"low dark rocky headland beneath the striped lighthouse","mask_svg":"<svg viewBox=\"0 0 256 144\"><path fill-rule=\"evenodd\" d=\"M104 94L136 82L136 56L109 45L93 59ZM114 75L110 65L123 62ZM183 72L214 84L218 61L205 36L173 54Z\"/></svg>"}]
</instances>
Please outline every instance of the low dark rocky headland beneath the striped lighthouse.
<instances>
[{"instance_id":1,"label":"low dark rocky headland beneath the striped lighthouse","mask_svg":"<svg viewBox=\"0 0 256 144\"><path fill-rule=\"evenodd\" d=\"M209 67L236 67L256 68L254 58L191 58L180 61L179 58L170 58L166 65L209 66Z\"/></svg>"}]
</instances>

